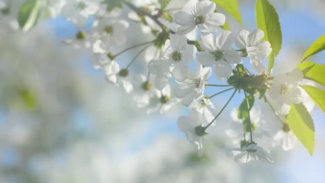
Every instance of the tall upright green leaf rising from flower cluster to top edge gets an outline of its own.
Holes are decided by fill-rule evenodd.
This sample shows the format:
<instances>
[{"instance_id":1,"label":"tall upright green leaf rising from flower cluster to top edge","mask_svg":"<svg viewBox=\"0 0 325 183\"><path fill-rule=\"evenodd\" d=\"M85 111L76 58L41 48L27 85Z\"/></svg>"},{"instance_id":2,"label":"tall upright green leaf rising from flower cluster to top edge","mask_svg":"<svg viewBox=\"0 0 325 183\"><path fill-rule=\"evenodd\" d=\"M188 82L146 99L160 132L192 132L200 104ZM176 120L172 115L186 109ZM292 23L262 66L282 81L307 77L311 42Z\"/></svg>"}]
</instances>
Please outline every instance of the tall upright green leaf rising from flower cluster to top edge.
<instances>
[{"instance_id":1,"label":"tall upright green leaf rising from flower cluster to top edge","mask_svg":"<svg viewBox=\"0 0 325 183\"><path fill-rule=\"evenodd\" d=\"M274 67L274 58L281 50L282 32L278 19L278 12L267 0L256 0L256 21L258 28L264 31L264 40L269 41L272 46L272 53L269 55L268 71Z\"/></svg>"}]
</instances>

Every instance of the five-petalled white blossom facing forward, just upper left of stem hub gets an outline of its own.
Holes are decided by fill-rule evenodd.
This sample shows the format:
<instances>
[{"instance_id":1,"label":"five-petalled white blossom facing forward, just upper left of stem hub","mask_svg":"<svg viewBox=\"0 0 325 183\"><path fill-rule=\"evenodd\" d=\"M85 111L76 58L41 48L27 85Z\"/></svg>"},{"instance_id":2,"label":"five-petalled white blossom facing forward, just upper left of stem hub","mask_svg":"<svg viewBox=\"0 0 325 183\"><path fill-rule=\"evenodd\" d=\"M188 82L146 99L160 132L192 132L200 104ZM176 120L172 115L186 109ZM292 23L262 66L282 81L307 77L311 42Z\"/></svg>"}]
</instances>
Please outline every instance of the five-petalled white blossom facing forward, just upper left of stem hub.
<instances>
[{"instance_id":1,"label":"five-petalled white blossom facing forward, just upper left of stem hub","mask_svg":"<svg viewBox=\"0 0 325 183\"><path fill-rule=\"evenodd\" d=\"M203 34L199 43L205 49L197 56L204 67L214 67L217 78L227 78L233 72L232 64L241 62L240 55L231 48L233 36L231 31L224 30L217 37L213 34Z\"/></svg>"}]
</instances>

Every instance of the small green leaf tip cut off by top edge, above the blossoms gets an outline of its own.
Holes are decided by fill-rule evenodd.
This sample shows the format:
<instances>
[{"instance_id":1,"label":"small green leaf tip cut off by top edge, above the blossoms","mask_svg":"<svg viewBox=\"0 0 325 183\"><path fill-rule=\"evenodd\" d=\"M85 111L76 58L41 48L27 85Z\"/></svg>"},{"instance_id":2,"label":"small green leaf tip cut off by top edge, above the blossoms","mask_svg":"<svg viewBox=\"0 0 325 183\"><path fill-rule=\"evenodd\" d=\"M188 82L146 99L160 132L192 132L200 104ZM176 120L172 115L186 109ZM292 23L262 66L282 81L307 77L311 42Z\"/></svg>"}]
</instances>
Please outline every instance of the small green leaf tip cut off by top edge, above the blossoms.
<instances>
[{"instance_id":1,"label":"small green leaf tip cut off by top edge, above the blossoms","mask_svg":"<svg viewBox=\"0 0 325 183\"><path fill-rule=\"evenodd\" d=\"M235 17L240 24L242 24L242 15L240 15L237 0L213 0L213 2L215 2L217 6L220 6L222 9L226 10L230 15Z\"/></svg>"}]
</instances>

